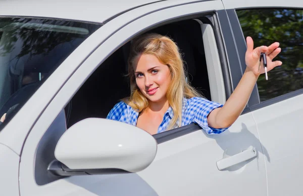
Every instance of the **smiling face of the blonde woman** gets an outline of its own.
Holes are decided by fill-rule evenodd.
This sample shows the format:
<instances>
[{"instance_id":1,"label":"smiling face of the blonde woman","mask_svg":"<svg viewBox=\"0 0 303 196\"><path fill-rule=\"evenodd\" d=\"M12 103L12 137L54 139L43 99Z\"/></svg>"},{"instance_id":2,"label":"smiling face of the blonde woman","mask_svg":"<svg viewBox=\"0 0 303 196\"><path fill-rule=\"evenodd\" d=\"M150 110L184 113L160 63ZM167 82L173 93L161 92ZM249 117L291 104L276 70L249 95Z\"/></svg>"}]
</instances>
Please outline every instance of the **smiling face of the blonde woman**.
<instances>
[{"instance_id":1,"label":"smiling face of the blonde woman","mask_svg":"<svg viewBox=\"0 0 303 196\"><path fill-rule=\"evenodd\" d=\"M154 55L142 54L134 64L136 83L140 91L151 102L166 101L171 82L169 67Z\"/></svg>"}]
</instances>

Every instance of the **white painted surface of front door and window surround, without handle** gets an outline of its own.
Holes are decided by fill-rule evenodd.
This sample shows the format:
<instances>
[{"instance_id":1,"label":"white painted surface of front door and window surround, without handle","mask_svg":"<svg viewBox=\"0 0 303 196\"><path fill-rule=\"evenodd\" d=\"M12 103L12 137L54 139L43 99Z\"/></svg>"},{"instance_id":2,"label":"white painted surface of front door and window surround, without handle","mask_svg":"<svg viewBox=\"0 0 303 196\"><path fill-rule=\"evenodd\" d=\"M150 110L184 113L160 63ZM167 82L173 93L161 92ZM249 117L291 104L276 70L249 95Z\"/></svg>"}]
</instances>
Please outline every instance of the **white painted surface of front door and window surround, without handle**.
<instances>
[{"instance_id":1,"label":"white painted surface of front door and window surround, without handle","mask_svg":"<svg viewBox=\"0 0 303 196\"><path fill-rule=\"evenodd\" d=\"M242 164L230 168L229 171L219 171L216 165L217 161L239 153L250 145L254 146L258 153L262 153L257 126L251 113L241 115L229 131L221 135L209 136L203 131L196 131L159 144L154 162L135 175L97 175L92 178L73 176L43 186L35 184L32 175L34 172L32 160L35 155L34 149L36 149L41 136L69 98L72 97L73 92L85 81L87 75L103 59L106 59L111 51L124 43L128 37L149 25L183 14L209 9L219 10L223 8L223 5L221 2L203 2L189 4L183 8L180 10L179 7L173 7L155 12L128 24L100 45L76 70L47 106L27 138L20 165L20 176L26 176L27 180L20 183L21 195L53 195L58 193L70 195L75 192L81 195L140 195L139 191L142 189L137 184L142 184L144 192L149 193L149 195L218 195L225 192L241 195L244 190L247 191L247 195L266 195L267 184L263 156L251 160L246 165ZM116 18L115 20L120 19ZM235 140L238 141L237 144L234 143ZM210 151L210 149L212 150ZM188 162L188 160L191 161ZM200 175L189 175L196 172L199 172ZM107 181L106 179L111 180ZM125 182L128 182L127 186L125 186ZM218 184L220 188L217 188ZM235 189L234 184L241 184L241 187Z\"/></svg>"}]
</instances>

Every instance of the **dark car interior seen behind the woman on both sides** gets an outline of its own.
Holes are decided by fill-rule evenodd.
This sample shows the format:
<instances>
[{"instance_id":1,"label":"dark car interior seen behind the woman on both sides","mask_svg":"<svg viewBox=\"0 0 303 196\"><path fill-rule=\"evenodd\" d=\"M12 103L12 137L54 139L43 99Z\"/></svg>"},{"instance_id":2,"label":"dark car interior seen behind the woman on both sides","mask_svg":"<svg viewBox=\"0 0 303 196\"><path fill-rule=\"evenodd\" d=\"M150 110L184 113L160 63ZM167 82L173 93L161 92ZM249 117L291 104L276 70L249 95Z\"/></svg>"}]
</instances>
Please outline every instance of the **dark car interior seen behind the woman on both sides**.
<instances>
[{"instance_id":1,"label":"dark car interior seen behind the woman on both sides","mask_svg":"<svg viewBox=\"0 0 303 196\"><path fill-rule=\"evenodd\" d=\"M189 82L211 100L200 24L189 19L169 23L147 32L160 33L173 39L180 48ZM130 95L126 76L130 42L106 59L65 107L67 128L88 117L105 118L116 103Z\"/></svg>"}]
</instances>

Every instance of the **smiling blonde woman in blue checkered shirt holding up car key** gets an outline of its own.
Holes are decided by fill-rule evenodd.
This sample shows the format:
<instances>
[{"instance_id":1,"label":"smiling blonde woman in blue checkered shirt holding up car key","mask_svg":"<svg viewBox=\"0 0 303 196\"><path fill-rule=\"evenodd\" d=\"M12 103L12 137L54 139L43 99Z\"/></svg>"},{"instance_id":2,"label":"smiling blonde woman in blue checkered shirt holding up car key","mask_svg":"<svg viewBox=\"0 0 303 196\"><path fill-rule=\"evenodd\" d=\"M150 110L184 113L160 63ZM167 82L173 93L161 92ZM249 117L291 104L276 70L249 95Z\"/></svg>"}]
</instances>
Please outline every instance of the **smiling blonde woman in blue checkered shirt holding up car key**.
<instances>
[{"instance_id":1,"label":"smiling blonde woman in blue checkered shirt holding up car key","mask_svg":"<svg viewBox=\"0 0 303 196\"><path fill-rule=\"evenodd\" d=\"M246 38L245 72L224 105L199 95L186 80L177 45L166 36L145 34L136 38L128 60L131 95L117 103L107 119L137 126L149 134L161 133L197 123L208 134L221 133L243 111L261 73L261 52L266 53L267 69L282 64L272 61L280 52L279 43L254 49Z\"/></svg>"}]
</instances>

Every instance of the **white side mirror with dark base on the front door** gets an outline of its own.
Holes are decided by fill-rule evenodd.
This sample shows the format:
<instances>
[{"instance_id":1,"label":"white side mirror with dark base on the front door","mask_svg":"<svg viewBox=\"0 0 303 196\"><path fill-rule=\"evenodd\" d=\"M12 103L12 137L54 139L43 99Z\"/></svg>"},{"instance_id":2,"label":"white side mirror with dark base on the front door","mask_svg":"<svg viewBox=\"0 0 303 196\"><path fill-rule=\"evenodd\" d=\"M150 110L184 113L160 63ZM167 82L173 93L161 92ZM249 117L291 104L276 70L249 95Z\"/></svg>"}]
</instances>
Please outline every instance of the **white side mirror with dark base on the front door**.
<instances>
[{"instance_id":1,"label":"white side mirror with dark base on the front door","mask_svg":"<svg viewBox=\"0 0 303 196\"><path fill-rule=\"evenodd\" d=\"M157 141L125 123L89 118L70 127L48 170L61 176L138 172L153 162Z\"/></svg>"}]
</instances>

